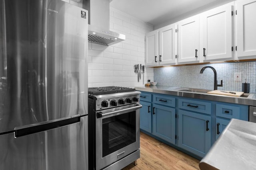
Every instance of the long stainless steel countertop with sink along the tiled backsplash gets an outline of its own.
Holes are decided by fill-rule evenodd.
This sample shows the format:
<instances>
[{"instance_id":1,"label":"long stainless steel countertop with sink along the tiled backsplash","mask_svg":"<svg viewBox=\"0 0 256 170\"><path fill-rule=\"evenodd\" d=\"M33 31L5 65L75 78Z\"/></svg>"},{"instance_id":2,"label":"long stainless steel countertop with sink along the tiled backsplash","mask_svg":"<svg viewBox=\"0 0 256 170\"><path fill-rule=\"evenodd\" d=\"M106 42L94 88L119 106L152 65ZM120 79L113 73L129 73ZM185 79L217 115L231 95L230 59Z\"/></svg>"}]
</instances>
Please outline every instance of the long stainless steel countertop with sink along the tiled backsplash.
<instances>
[{"instance_id":1,"label":"long stainless steel countertop with sink along the tiled backsplash","mask_svg":"<svg viewBox=\"0 0 256 170\"><path fill-rule=\"evenodd\" d=\"M218 102L228 102L234 104L243 104L248 106L256 106L256 94L245 94L248 97L234 97L234 96L226 96L226 95L217 95L217 94L208 94L200 89L193 89L194 92L187 92L182 90L188 90L190 88L183 88L183 87L175 87L175 86L140 86L135 87L136 90L143 91L143 92L153 92L153 93L160 93L160 94L168 94L174 96L182 96L186 98L196 98L196 99L204 99L204 100L212 100ZM211 90L205 90L211 91Z\"/></svg>"}]
</instances>

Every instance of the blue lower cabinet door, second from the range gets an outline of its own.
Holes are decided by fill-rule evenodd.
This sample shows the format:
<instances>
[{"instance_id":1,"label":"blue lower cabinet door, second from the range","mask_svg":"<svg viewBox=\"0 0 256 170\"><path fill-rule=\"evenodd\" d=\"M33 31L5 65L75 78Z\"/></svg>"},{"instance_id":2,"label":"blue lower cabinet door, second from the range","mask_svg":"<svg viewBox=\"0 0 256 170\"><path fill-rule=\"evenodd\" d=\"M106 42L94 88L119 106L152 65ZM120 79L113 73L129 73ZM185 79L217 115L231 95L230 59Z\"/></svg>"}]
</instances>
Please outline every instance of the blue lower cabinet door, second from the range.
<instances>
[{"instance_id":1,"label":"blue lower cabinet door, second from the range","mask_svg":"<svg viewBox=\"0 0 256 170\"><path fill-rule=\"evenodd\" d=\"M153 135L175 144L175 109L153 104Z\"/></svg>"}]
</instances>

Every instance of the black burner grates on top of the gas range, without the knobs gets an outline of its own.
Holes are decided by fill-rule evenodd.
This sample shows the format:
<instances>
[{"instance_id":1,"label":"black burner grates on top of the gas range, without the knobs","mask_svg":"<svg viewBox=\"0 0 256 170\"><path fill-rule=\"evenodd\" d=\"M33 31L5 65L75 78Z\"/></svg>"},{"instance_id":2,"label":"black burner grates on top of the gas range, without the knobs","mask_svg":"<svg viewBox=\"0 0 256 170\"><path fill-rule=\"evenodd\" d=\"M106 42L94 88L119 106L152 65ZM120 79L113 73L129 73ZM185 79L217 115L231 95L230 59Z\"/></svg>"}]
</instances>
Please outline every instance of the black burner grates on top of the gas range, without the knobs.
<instances>
[{"instance_id":1,"label":"black burner grates on top of the gas range, without the knobs","mask_svg":"<svg viewBox=\"0 0 256 170\"><path fill-rule=\"evenodd\" d=\"M122 93L122 92L133 92L133 91L135 91L135 88L118 87L118 86L88 88L88 94L93 96L103 95L103 94Z\"/></svg>"}]
</instances>

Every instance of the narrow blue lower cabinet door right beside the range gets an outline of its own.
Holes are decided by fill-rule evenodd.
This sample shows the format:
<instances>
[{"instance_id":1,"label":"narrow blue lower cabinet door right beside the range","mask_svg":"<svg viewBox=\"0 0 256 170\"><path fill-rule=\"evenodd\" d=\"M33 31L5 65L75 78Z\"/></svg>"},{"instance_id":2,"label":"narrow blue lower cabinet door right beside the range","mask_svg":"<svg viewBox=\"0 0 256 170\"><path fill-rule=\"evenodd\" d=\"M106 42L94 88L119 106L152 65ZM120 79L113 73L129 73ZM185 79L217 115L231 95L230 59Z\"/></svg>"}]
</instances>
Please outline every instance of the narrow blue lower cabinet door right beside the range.
<instances>
[{"instance_id":1,"label":"narrow blue lower cabinet door right beside the range","mask_svg":"<svg viewBox=\"0 0 256 170\"><path fill-rule=\"evenodd\" d=\"M142 108L140 108L140 129L152 133L151 103L140 101L140 104L142 105Z\"/></svg>"}]
</instances>

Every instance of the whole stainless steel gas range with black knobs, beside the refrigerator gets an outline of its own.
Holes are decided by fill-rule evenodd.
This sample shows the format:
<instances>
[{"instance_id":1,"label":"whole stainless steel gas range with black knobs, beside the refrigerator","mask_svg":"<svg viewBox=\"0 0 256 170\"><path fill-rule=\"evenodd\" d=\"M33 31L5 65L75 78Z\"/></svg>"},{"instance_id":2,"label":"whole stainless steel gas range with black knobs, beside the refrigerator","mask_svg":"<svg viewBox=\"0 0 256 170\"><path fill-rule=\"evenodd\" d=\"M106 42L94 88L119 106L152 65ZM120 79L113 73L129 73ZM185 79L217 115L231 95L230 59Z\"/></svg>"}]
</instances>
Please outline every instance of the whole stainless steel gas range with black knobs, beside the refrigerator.
<instances>
[{"instance_id":1,"label":"whole stainless steel gas range with black knobs, beside the refrigerator","mask_svg":"<svg viewBox=\"0 0 256 170\"><path fill-rule=\"evenodd\" d=\"M88 88L89 169L122 169L140 158L140 92Z\"/></svg>"}]
</instances>

